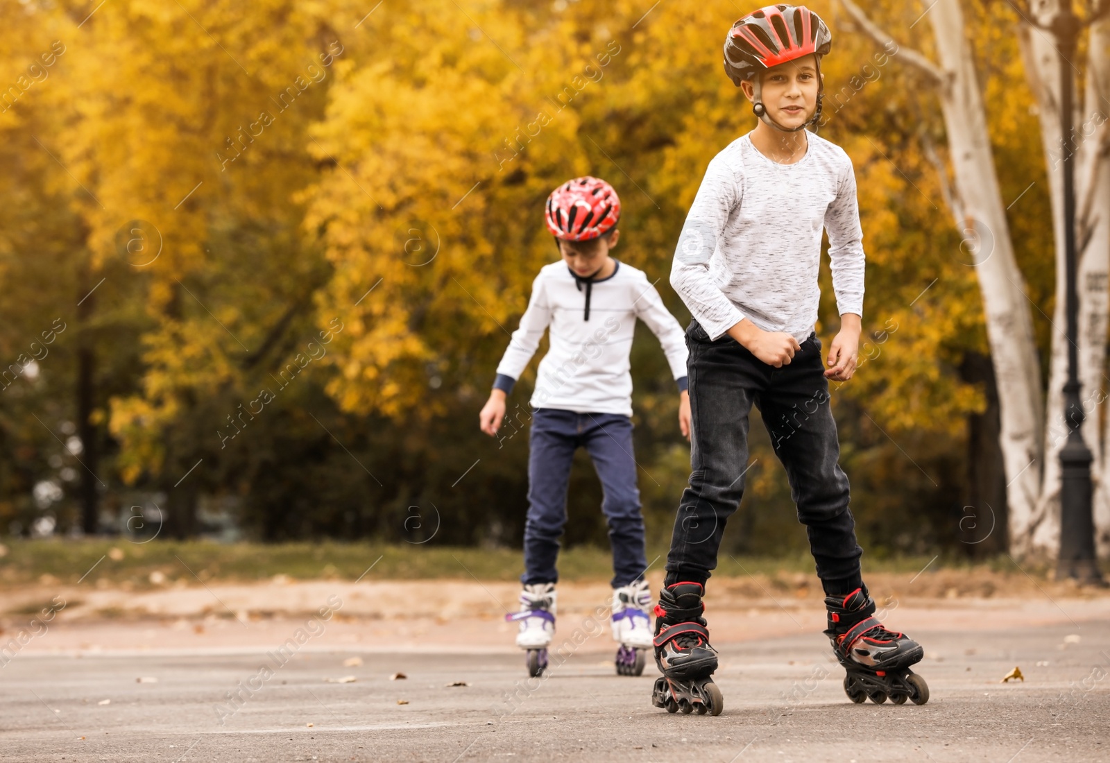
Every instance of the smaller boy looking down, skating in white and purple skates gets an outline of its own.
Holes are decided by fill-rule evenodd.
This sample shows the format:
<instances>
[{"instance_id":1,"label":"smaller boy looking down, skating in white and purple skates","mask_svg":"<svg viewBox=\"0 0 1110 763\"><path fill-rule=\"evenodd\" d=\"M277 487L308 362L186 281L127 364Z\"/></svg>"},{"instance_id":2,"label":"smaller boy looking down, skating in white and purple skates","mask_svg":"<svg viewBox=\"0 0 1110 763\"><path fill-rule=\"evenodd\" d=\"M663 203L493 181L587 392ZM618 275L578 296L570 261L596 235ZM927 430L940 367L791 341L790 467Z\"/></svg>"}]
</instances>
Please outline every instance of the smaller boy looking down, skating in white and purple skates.
<instances>
[{"instance_id":1,"label":"smaller boy looking down, skating in white and purple skates","mask_svg":"<svg viewBox=\"0 0 1110 763\"><path fill-rule=\"evenodd\" d=\"M613 545L610 623L620 644L616 668L622 675L639 675L652 645L652 593L643 579L647 558L633 458L628 354L639 318L663 345L678 384L679 427L688 437L686 344L647 276L609 256L620 237L620 200L613 186L576 177L552 192L545 216L562 261L543 267L533 283L528 308L480 415L482 431L496 435L506 396L549 327L551 349L539 363L532 396L524 590L521 611L507 619L519 622L516 643L527 651L528 673L538 675L547 665L555 630L555 561L566 523L571 464L574 451L584 447L602 481L602 510Z\"/></svg>"}]
</instances>

